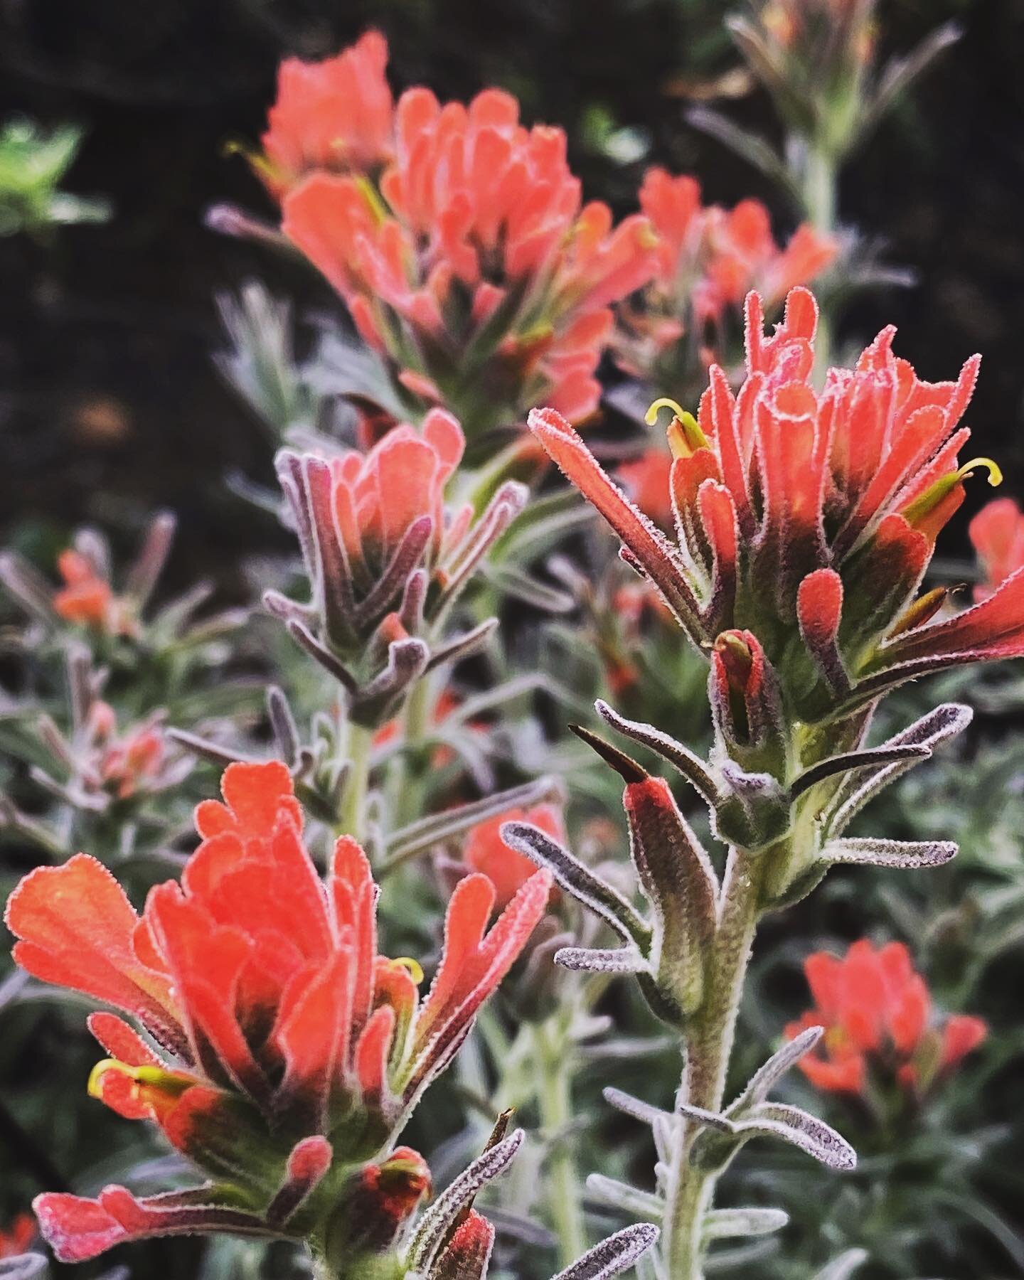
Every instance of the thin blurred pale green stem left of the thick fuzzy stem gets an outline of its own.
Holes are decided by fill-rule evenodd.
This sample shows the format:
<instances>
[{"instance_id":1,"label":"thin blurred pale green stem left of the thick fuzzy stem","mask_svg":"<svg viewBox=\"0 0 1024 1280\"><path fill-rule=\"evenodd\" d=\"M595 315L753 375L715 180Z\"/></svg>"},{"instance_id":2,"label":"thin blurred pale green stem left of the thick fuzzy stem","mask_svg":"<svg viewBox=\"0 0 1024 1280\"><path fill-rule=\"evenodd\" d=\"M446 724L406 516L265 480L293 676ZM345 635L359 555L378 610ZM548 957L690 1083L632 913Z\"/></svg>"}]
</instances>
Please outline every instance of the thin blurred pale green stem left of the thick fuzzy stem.
<instances>
[{"instance_id":1,"label":"thin blurred pale green stem left of the thick fuzzy stem","mask_svg":"<svg viewBox=\"0 0 1024 1280\"><path fill-rule=\"evenodd\" d=\"M552 1019L535 1029L540 1124L552 1140L548 1161L550 1213L558 1236L559 1267L586 1252L580 1171L568 1128L572 1123L573 1053ZM561 1021L561 1020L559 1020Z\"/></svg>"}]
</instances>

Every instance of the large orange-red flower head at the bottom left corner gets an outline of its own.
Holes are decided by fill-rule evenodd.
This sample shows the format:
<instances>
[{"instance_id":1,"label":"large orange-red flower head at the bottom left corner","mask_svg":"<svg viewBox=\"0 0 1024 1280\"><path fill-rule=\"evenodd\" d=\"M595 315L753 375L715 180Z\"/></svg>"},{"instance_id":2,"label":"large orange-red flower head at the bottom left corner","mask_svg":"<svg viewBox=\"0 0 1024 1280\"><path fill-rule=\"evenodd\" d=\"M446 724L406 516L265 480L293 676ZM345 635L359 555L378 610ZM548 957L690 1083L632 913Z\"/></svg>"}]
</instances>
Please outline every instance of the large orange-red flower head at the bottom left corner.
<instances>
[{"instance_id":1,"label":"large orange-red flower head at the bottom left corner","mask_svg":"<svg viewBox=\"0 0 1024 1280\"><path fill-rule=\"evenodd\" d=\"M340 1203L365 1162L387 1153L544 913L550 877L538 873L488 932L494 888L467 877L420 1000L415 964L376 954L376 887L360 846L342 837L326 882L316 874L287 768L229 765L223 790L223 804L196 810L202 842L182 883L154 888L142 916L84 854L32 872L8 902L19 965L143 1032L111 1012L90 1018L109 1055L91 1092L155 1121L215 1180L198 1199L136 1202L113 1188L83 1208L46 1197L41 1221L61 1256L91 1256L76 1253L91 1248L76 1244L79 1219L113 1219L118 1238L160 1234L197 1229L196 1206L209 1208L211 1230L273 1234L298 1212L289 1231L305 1234L302 1222ZM230 1224L218 1216L228 1211Z\"/></svg>"}]
</instances>

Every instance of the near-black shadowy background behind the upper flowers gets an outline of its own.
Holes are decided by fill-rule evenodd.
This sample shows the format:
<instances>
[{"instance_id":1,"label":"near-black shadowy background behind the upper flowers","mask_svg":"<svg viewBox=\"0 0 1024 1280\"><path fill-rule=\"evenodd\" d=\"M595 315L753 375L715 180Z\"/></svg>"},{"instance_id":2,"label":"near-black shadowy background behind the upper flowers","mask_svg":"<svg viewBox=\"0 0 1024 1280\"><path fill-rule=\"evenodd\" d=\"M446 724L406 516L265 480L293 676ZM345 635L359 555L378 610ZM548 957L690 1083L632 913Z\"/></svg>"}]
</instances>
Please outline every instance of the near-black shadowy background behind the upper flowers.
<instances>
[{"instance_id":1,"label":"near-black shadowy background behind the upper flowers","mask_svg":"<svg viewBox=\"0 0 1024 1280\"><path fill-rule=\"evenodd\" d=\"M300 306L323 285L259 247L205 229L229 200L271 211L232 138L256 141L284 54L335 51L367 23L392 42L396 88L442 96L497 83L529 120L567 127L588 193L632 206L646 163L695 172L708 198L760 195L780 229L792 215L763 179L684 120L680 82L735 64L716 0L6 0L0 115L88 132L65 183L106 196L106 225L49 246L0 241L0 522L22 541L100 520L125 535L156 504L182 517L177 563L229 572L232 552L274 536L223 489L227 468L269 476L269 449L210 364L216 289L259 273ZM895 320L897 349L929 379L984 352L970 413L977 452L1021 492L1024 332L1024 0L882 0L883 47L909 49L956 18L946 54L850 165L844 218L888 242L916 287L861 300L846 330ZM722 104L771 131L767 100ZM603 146L636 128L643 160ZM671 388L666 388L671 392ZM972 486L966 513L988 497ZM961 521L963 531L963 521ZM963 545L960 548L963 550ZM947 544L947 552L956 552Z\"/></svg>"}]
</instances>

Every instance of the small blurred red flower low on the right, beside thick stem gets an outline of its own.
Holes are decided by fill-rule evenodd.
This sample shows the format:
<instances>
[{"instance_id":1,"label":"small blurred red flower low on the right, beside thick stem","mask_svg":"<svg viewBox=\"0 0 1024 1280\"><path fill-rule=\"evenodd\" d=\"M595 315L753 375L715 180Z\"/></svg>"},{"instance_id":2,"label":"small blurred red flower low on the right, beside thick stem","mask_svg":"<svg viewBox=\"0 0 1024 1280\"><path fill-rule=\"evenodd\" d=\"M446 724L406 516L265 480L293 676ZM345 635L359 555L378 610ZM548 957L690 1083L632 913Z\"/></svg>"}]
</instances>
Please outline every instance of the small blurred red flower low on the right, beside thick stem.
<instances>
[{"instance_id":1,"label":"small blurred red flower low on the right, beside thick stem","mask_svg":"<svg viewBox=\"0 0 1024 1280\"><path fill-rule=\"evenodd\" d=\"M986 1024L966 1014L932 1025L928 988L900 942L876 948L861 940L842 959L817 951L804 973L815 1007L786 1028L786 1038L824 1027L820 1048L800 1059L819 1089L864 1093L874 1070L924 1091L986 1037Z\"/></svg>"}]
</instances>

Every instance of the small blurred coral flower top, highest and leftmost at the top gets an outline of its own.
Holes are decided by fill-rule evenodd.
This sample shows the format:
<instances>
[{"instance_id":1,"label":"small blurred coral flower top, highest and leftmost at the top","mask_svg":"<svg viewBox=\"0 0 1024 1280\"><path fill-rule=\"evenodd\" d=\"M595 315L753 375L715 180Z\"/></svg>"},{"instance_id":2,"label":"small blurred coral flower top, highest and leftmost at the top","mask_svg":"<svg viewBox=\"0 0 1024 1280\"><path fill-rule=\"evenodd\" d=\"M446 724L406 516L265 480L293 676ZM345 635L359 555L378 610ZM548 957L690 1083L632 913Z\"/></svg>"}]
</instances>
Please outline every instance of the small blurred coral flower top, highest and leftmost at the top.
<instances>
[{"instance_id":1,"label":"small blurred coral flower top, highest and leftmost at the top","mask_svg":"<svg viewBox=\"0 0 1024 1280\"><path fill-rule=\"evenodd\" d=\"M365 173L394 151L394 102L388 42L367 31L351 49L320 63L287 58L268 113L264 154L253 168L280 198L315 169Z\"/></svg>"}]
</instances>

